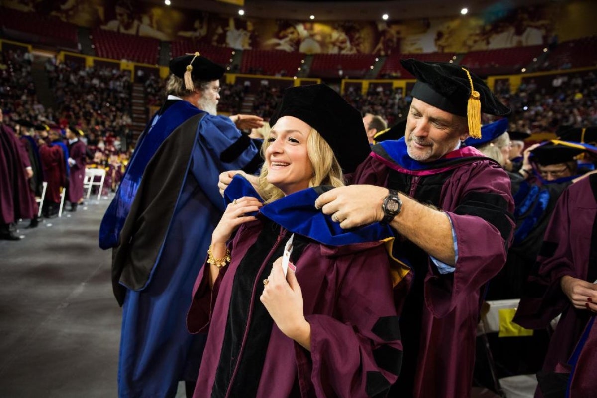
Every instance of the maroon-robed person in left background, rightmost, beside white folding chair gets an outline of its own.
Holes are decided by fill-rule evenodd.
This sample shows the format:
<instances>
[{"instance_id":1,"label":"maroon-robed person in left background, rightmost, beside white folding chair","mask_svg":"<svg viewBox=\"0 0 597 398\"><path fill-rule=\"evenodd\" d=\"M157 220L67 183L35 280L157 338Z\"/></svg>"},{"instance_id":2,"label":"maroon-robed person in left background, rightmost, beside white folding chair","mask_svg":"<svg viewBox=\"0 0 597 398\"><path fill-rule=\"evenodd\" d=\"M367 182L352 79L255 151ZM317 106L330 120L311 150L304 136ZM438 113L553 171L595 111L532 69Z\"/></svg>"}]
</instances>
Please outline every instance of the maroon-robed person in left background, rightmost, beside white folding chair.
<instances>
[{"instance_id":1,"label":"maroon-robed person in left background, rightmost, beside white folding chair","mask_svg":"<svg viewBox=\"0 0 597 398\"><path fill-rule=\"evenodd\" d=\"M85 164L87 163L87 147L79 140L81 134L78 129L71 126L66 130L66 138L69 140L69 189L68 200L70 211L76 211L76 207L83 199L83 180L85 178Z\"/></svg>"}]
</instances>

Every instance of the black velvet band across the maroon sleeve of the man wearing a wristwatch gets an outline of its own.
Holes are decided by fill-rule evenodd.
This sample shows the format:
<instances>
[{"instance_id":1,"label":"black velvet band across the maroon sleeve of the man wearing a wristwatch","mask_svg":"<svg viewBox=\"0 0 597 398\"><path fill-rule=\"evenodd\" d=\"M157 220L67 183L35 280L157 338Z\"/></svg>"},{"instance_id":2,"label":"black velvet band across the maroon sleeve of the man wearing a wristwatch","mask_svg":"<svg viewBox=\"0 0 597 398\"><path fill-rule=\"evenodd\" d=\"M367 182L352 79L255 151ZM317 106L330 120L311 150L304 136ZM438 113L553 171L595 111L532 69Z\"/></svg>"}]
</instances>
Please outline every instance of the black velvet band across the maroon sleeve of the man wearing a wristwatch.
<instances>
[{"instance_id":1,"label":"black velvet band across the maroon sleeve of the man wearing a wristwatch","mask_svg":"<svg viewBox=\"0 0 597 398\"><path fill-rule=\"evenodd\" d=\"M507 211L508 203L498 193L469 192L464 195L460 205L454 210L459 215L475 215L481 217L497 228L502 239L508 240L512 233L512 214Z\"/></svg>"}]
</instances>

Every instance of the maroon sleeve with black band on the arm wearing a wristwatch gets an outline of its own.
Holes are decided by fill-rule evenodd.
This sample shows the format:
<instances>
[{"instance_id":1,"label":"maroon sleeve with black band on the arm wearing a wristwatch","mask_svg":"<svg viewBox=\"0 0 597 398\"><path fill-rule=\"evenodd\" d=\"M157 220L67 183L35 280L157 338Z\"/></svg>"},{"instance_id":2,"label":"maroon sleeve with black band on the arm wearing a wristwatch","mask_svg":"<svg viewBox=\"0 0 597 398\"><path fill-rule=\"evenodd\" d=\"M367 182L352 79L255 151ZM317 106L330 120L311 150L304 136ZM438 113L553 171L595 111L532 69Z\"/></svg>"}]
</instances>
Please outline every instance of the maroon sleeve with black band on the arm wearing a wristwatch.
<instances>
[{"instance_id":1,"label":"maroon sleeve with black band on the arm wearing a wristwatch","mask_svg":"<svg viewBox=\"0 0 597 398\"><path fill-rule=\"evenodd\" d=\"M425 302L436 317L444 317L479 289L506 263L515 223L510 178L486 161L460 166L444 184L443 210L456 235L458 257L454 273L440 274L429 260Z\"/></svg>"}]
</instances>

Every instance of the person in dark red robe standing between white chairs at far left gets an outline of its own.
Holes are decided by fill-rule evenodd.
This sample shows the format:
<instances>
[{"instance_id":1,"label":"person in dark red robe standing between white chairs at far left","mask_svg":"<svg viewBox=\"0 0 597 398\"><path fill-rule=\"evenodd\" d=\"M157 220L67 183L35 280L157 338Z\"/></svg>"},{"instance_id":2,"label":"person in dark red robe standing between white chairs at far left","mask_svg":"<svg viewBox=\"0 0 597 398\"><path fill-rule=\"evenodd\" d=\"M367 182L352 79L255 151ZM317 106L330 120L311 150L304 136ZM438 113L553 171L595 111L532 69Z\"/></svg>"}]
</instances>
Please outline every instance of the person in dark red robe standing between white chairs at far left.
<instances>
[{"instance_id":1,"label":"person in dark red robe standing between white chairs at far left","mask_svg":"<svg viewBox=\"0 0 597 398\"><path fill-rule=\"evenodd\" d=\"M48 132L50 143L39 147L39 158L44 169L45 181L48 186L45 191L44 216L56 217L60 207L60 193L66 187L66 163L61 147L61 134L59 127L51 127Z\"/></svg>"}]
</instances>

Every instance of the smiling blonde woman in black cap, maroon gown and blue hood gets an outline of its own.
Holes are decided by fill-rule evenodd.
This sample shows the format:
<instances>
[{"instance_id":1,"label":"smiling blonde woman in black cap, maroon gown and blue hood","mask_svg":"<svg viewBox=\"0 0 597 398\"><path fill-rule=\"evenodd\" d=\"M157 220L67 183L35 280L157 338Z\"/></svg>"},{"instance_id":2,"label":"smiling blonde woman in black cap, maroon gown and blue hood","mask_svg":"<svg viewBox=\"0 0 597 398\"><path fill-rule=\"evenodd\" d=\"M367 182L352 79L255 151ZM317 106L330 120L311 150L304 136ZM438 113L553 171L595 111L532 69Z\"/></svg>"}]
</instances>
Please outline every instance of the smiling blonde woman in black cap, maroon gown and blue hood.
<instances>
[{"instance_id":1,"label":"smiling blonde woman in black cap, maroon gown and blue hood","mask_svg":"<svg viewBox=\"0 0 597 398\"><path fill-rule=\"evenodd\" d=\"M392 232L315 208L370 152L361 116L317 84L287 88L270 123L259 193L233 178L193 289L187 327L208 331L193 397L384 396L402 359Z\"/></svg>"}]
</instances>

